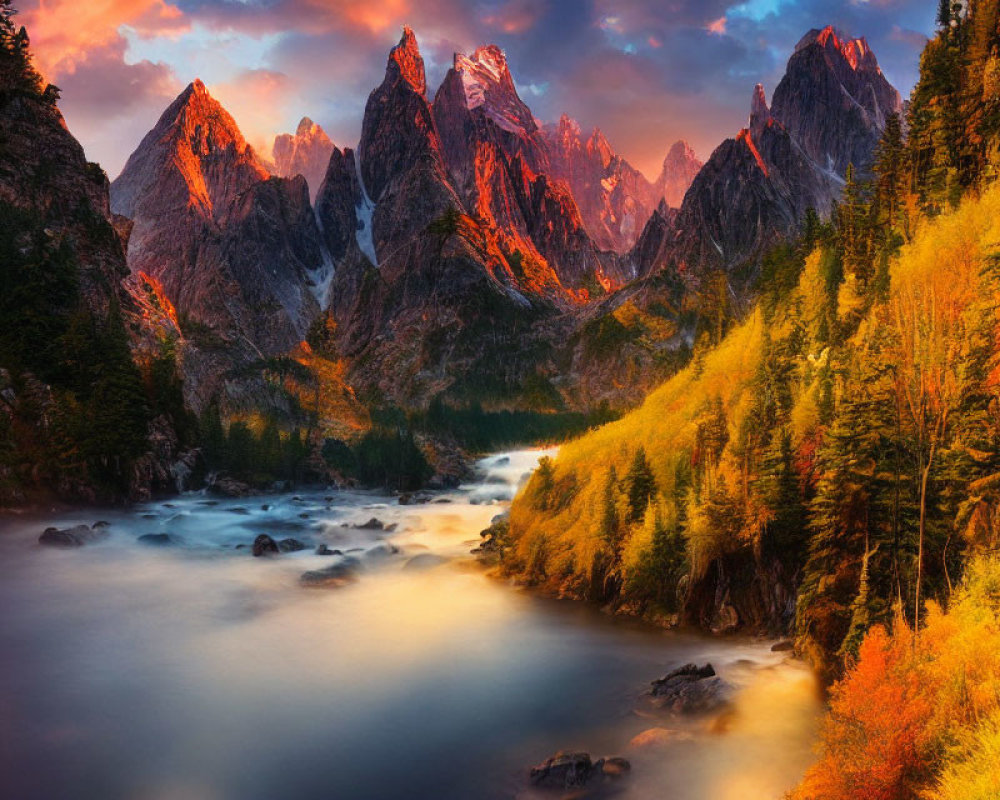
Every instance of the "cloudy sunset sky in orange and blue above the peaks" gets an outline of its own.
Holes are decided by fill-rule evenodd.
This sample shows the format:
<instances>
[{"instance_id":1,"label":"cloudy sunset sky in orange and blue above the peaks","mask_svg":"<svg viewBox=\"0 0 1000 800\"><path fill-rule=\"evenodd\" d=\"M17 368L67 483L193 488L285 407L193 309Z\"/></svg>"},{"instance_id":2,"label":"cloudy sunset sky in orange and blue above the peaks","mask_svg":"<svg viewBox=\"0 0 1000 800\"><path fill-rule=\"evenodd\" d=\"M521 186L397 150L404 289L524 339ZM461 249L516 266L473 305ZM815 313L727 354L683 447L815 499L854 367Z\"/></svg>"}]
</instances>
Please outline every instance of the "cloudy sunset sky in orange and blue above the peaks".
<instances>
[{"instance_id":1,"label":"cloudy sunset sky in orange and blue above the peaks","mask_svg":"<svg viewBox=\"0 0 1000 800\"><path fill-rule=\"evenodd\" d=\"M796 42L868 39L907 96L937 0L15 0L38 67L88 158L114 178L195 78L265 154L309 116L353 147L404 24L436 89L455 52L497 44L543 121L597 126L655 177L686 139L706 159L770 98Z\"/></svg>"}]
</instances>

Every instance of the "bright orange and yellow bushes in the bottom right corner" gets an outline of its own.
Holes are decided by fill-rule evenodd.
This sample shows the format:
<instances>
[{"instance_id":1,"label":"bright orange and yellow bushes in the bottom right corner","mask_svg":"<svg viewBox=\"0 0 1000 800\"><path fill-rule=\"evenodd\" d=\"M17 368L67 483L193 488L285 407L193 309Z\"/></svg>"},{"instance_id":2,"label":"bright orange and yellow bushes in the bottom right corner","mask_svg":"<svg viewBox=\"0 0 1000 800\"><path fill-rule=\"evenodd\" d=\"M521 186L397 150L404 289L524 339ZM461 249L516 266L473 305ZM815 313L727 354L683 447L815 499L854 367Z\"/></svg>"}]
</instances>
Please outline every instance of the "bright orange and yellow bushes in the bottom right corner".
<instances>
[{"instance_id":1,"label":"bright orange and yellow bushes in the bottom right corner","mask_svg":"<svg viewBox=\"0 0 1000 800\"><path fill-rule=\"evenodd\" d=\"M978 766L965 768L969 748L956 744L978 740L993 752L1000 560L973 560L949 605L945 612L927 604L917 641L902 620L891 635L882 627L869 632L857 664L832 690L821 758L793 800L996 797L969 789L965 773L993 785L1000 784L997 770L984 777Z\"/></svg>"}]
</instances>

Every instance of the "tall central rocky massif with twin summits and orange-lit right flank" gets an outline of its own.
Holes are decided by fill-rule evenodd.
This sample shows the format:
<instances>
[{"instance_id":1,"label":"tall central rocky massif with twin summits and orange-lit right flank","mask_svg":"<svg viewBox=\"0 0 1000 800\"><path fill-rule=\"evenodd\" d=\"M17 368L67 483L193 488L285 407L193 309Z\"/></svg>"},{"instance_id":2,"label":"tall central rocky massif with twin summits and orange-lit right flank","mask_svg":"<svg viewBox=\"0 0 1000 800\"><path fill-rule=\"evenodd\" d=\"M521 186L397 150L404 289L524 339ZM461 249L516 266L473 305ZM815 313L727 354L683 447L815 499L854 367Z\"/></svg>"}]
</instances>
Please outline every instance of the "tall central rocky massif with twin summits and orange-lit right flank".
<instances>
[{"instance_id":1,"label":"tall central rocky massif with twin summits and orange-lit right flank","mask_svg":"<svg viewBox=\"0 0 1000 800\"><path fill-rule=\"evenodd\" d=\"M536 174L534 123L509 93L458 70L433 107L426 88L406 29L369 97L357 155L330 159L317 216L337 267L338 348L364 393L501 400L538 366L536 324L572 302L533 236L572 239L579 217L567 223L571 198Z\"/></svg>"}]
</instances>

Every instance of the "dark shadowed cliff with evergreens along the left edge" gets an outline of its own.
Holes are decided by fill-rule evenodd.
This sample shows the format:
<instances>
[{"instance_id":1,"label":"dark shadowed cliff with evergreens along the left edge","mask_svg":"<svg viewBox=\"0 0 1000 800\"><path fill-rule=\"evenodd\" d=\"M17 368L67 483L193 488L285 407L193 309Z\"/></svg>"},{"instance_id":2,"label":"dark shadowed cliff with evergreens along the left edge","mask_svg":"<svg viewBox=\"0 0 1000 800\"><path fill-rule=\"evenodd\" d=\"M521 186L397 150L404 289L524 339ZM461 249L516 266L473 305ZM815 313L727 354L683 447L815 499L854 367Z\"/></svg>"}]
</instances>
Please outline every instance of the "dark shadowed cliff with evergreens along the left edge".
<instances>
[{"instance_id":1,"label":"dark shadowed cliff with evergreens along the left edge","mask_svg":"<svg viewBox=\"0 0 1000 800\"><path fill-rule=\"evenodd\" d=\"M178 420L154 413L161 398L146 408L134 394L139 370L178 341L176 320L129 279L127 226L118 229L107 176L57 98L26 56L0 48L0 507L36 492L145 499L174 488L182 457L193 462ZM12 350L18 338L26 346Z\"/></svg>"}]
</instances>

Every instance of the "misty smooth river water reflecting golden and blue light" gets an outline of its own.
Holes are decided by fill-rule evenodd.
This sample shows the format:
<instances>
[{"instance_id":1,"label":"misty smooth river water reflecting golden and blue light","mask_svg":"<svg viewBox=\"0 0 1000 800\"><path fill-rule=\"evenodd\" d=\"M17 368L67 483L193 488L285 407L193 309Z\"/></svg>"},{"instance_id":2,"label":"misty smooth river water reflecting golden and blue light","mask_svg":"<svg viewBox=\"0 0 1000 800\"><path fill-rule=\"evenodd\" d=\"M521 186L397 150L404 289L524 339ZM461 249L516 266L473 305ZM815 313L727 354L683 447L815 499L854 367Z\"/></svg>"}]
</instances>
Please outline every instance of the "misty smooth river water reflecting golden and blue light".
<instances>
[{"instance_id":1,"label":"misty smooth river water reflecting golden and blue light","mask_svg":"<svg viewBox=\"0 0 1000 800\"><path fill-rule=\"evenodd\" d=\"M528 798L527 766L581 749L632 761L616 797L780 797L810 759L805 670L766 644L539 600L471 562L538 455L487 459L480 483L419 505L309 492L104 512L111 536L72 551L38 534L93 513L2 523L2 794ZM372 518L397 527L354 527ZM138 543L146 533L179 544ZM237 549L259 533L309 547ZM316 555L320 543L344 555ZM355 583L299 585L347 556L362 564ZM649 716L648 682L694 660L742 687L733 711ZM654 727L678 733L629 744Z\"/></svg>"}]
</instances>

